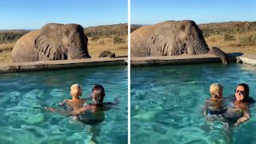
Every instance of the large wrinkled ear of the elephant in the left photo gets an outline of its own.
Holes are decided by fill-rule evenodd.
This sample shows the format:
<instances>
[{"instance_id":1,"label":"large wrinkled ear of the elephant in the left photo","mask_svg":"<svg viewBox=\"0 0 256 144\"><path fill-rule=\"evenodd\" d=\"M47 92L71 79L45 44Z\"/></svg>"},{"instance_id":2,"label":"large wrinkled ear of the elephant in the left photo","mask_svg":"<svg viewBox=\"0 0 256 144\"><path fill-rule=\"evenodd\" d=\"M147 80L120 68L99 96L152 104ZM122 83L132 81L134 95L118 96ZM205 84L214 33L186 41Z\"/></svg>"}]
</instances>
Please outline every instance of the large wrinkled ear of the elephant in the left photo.
<instances>
[{"instance_id":1,"label":"large wrinkled ear of the elephant in the left photo","mask_svg":"<svg viewBox=\"0 0 256 144\"><path fill-rule=\"evenodd\" d=\"M62 52L62 24L50 23L43 26L40 30L38 38L35 40L35 47L38 51L50 60L65 59L65 54Z\"/></svg>"}]
</instances>

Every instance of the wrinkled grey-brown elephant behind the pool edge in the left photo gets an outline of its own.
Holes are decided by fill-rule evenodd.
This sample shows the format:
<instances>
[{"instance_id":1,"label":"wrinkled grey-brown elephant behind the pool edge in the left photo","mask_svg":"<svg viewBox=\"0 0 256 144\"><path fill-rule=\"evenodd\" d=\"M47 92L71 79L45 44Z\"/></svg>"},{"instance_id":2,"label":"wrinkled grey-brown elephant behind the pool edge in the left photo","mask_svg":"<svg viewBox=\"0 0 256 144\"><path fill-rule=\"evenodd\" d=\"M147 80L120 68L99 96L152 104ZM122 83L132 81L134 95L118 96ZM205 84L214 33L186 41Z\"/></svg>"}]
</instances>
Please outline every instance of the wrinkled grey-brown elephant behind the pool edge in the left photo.
<instances>
[{"instance_id":1,"label":"wrinkled grey-brown elephant behind the pool edge in the left photo","mask_svg":"<svg viewBox=\"0 0 256 144\"><path fill-rule=\"evenodd\" d=\"M82 26L49 23L19 38L12 58L14 62L90 58L87 42Z\"/></svg>"}]
</instances>

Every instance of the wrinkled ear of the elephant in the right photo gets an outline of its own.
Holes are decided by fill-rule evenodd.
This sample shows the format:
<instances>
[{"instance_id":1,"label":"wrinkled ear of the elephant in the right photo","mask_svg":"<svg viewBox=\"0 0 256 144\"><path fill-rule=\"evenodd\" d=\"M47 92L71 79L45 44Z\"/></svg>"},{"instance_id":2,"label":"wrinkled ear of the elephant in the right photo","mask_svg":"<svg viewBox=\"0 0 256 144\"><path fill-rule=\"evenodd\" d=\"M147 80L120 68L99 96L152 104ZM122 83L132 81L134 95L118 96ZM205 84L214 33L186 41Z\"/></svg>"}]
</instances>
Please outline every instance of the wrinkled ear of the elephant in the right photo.
<instances>
[{"instance_id":1,"label":"wrinkled ear of the elephant in the right photo","mask_svg":"<svg viewBox=\"0 0 256 144\"><path fill-rule=\"evenodd\" d=\"M177 42L172 42L172 39L174 38L170 38L170 35L166 34L155 34L151 37L154 48L163 55L181 55L182 50L176 46Z\"/></svg>"}]
</instances>

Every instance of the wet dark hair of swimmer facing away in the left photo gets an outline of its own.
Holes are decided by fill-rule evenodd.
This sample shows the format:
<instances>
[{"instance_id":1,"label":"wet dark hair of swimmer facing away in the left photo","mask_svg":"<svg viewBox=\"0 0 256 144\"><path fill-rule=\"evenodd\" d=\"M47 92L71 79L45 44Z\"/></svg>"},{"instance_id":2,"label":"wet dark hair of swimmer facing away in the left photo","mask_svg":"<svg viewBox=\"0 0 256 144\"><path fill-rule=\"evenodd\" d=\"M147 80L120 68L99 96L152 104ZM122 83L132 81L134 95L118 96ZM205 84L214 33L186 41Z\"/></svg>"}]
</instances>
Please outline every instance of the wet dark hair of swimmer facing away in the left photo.
<instances>
[{"instance_id":1,"label":"wet dark hair of swimmer facing away in the left photo","mask_svg":"<svg viewBox=\"0 0 256 144\"><path fill-rule=\"evenodd\" d=\"M94 98L94 105L95 106L102 106L103 99L105 97L105 90L102 85L95 85L92 89L92 95Z\"/></svg>"}]
</instances>

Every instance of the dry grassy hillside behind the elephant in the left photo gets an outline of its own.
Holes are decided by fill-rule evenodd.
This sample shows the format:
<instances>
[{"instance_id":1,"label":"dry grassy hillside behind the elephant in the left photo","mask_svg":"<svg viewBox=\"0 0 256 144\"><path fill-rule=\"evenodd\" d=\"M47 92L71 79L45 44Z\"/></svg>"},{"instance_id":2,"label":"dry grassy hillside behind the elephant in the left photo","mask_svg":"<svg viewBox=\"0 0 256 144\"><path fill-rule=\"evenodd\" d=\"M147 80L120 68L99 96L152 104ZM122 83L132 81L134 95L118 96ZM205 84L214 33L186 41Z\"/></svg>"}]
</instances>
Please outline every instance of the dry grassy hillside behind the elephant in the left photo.
<instances>
[{"instance_id":1,"label":"dry grassy hillside behind the elephant in the left photo","mask_svg":"<svg viewBox=\"0 0 256 144\"><path fill-rule=\"evenodd\" d=\"M91 57L97 58L105 50L116 56L128 55L128 25L115 24L84 28L88 40L88 51ZM18 38L30 30L0 30L0 63L12 62L11 50Z\"/></svg>"}]
</instances>

